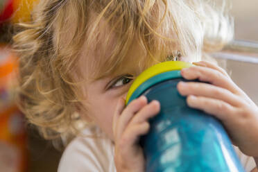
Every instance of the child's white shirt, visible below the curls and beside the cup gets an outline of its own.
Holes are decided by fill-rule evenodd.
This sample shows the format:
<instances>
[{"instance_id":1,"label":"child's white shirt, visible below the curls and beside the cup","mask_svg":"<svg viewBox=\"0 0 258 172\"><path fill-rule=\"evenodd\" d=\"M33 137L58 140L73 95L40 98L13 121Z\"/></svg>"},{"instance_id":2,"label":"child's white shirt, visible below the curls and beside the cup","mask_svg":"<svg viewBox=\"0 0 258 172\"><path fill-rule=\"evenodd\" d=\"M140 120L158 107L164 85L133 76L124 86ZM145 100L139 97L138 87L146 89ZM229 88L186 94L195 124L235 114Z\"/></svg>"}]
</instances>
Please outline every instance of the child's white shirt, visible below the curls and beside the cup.
<instances>
[{"instance_id":1,"label":"child's white shirt, visible below the curls and beside the cup","mask_svg":"<svg viewBox=\"0 0 258 172\"><path fill-rule=\"evenodd\" d=\"M84 130L85 137L76 137L65 149L62 155L58 172L116 172L114 166L114 145L110 139L96 129L99 137L87 137L92 131ZM249 172L255 168L255 160L241 153L234 147L244 169Z\"/></svg>"}]
</instances>

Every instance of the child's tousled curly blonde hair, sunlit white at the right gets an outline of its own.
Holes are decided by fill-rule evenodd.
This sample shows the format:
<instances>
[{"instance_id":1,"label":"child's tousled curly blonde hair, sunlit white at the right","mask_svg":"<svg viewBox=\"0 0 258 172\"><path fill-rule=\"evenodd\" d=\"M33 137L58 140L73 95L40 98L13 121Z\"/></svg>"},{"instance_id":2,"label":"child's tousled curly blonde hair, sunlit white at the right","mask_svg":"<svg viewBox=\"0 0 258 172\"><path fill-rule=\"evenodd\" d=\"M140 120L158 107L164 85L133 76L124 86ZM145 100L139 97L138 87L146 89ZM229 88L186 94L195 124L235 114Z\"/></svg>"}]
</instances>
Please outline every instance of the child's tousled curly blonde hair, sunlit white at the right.
<instances>
[{"instance_id":1,"label":"child's tousled curly blonde hair, sunlit white at the right","mask_svg":"<svg viewBox=\"0 0 258 172\"><path fill-rule=\"evenodd\" d=\"M121 67L135 42L146 54L135 62L142 69L178 52L198 61L204 53L220 50L232 39L233 26L226 15L226 2L221 2L222 8L211 3L214 2L40 1L32 22L19 24L19 32L13 37L13 47L20 57L19 105L28 121L38 126L44 138L62 138L63 142L90 125L87 120L83 125L78 123L83 121L78 110L84 110L87 116L82 103L83 76L78 69L82 46L106 55L105 45L115 37L116 44L105 65L96 64L99 71L95 78L108 76ZM103 19L105 24L101 23ZM105 39L99 40L103 29Z\"/></svg>"}]
</instances>

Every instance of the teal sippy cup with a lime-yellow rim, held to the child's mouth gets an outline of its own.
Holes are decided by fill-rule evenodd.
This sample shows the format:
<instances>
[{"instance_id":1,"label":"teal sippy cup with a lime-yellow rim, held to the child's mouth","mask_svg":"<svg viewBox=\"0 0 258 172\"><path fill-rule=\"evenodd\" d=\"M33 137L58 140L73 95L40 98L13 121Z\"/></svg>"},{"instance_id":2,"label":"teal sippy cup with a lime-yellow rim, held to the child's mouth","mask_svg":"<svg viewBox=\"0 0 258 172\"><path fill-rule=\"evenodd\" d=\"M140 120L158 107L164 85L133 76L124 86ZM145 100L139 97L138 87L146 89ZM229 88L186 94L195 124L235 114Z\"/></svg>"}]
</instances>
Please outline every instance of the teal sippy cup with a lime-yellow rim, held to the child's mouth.
<instances>
[{"instance_id":1,"label":"teal sippy cup with a lime-yellow rim, held to the child's mouth","mask_svg":"<svg viewBox=\"0 0 258 172\"><path fill-rule=\"evenodd\" d=\"M140 139L148 172L243 172L221 122L187 106L176 89L187 62L162 62L146 69L128 91L126 103L146 96L160 101L160 113L150 119L150 131ZM198 82L197 80L191 80Z\"/></svg>"}]
</instances>

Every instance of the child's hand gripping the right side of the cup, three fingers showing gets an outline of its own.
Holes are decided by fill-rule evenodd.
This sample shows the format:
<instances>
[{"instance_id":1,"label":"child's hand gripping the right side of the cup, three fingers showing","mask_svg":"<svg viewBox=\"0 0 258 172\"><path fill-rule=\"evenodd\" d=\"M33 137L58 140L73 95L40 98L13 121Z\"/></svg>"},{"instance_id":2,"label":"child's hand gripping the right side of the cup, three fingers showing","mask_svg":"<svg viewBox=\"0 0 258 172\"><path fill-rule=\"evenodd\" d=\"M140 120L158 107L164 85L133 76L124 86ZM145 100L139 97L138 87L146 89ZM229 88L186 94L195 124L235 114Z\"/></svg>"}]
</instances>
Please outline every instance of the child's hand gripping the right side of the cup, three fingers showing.
<instances>
[{"instance_id":1,"label":"child's hand gripping the right side of the cup, three fingers showing","mask_svg":"<svg viewBox=\"0 0 258 172\"><path fill-rule=\"evenodd\" d=\"M203 110L220 119L232 143L246 155L258 157L258 107L230 79L230 76L209 62L194 62L196 67L182 69L188 80L207 83L179 83L178 91L187 96L190 107ZM194 96L193 96L194 95Z\"/></svg>"}]
</instances>

